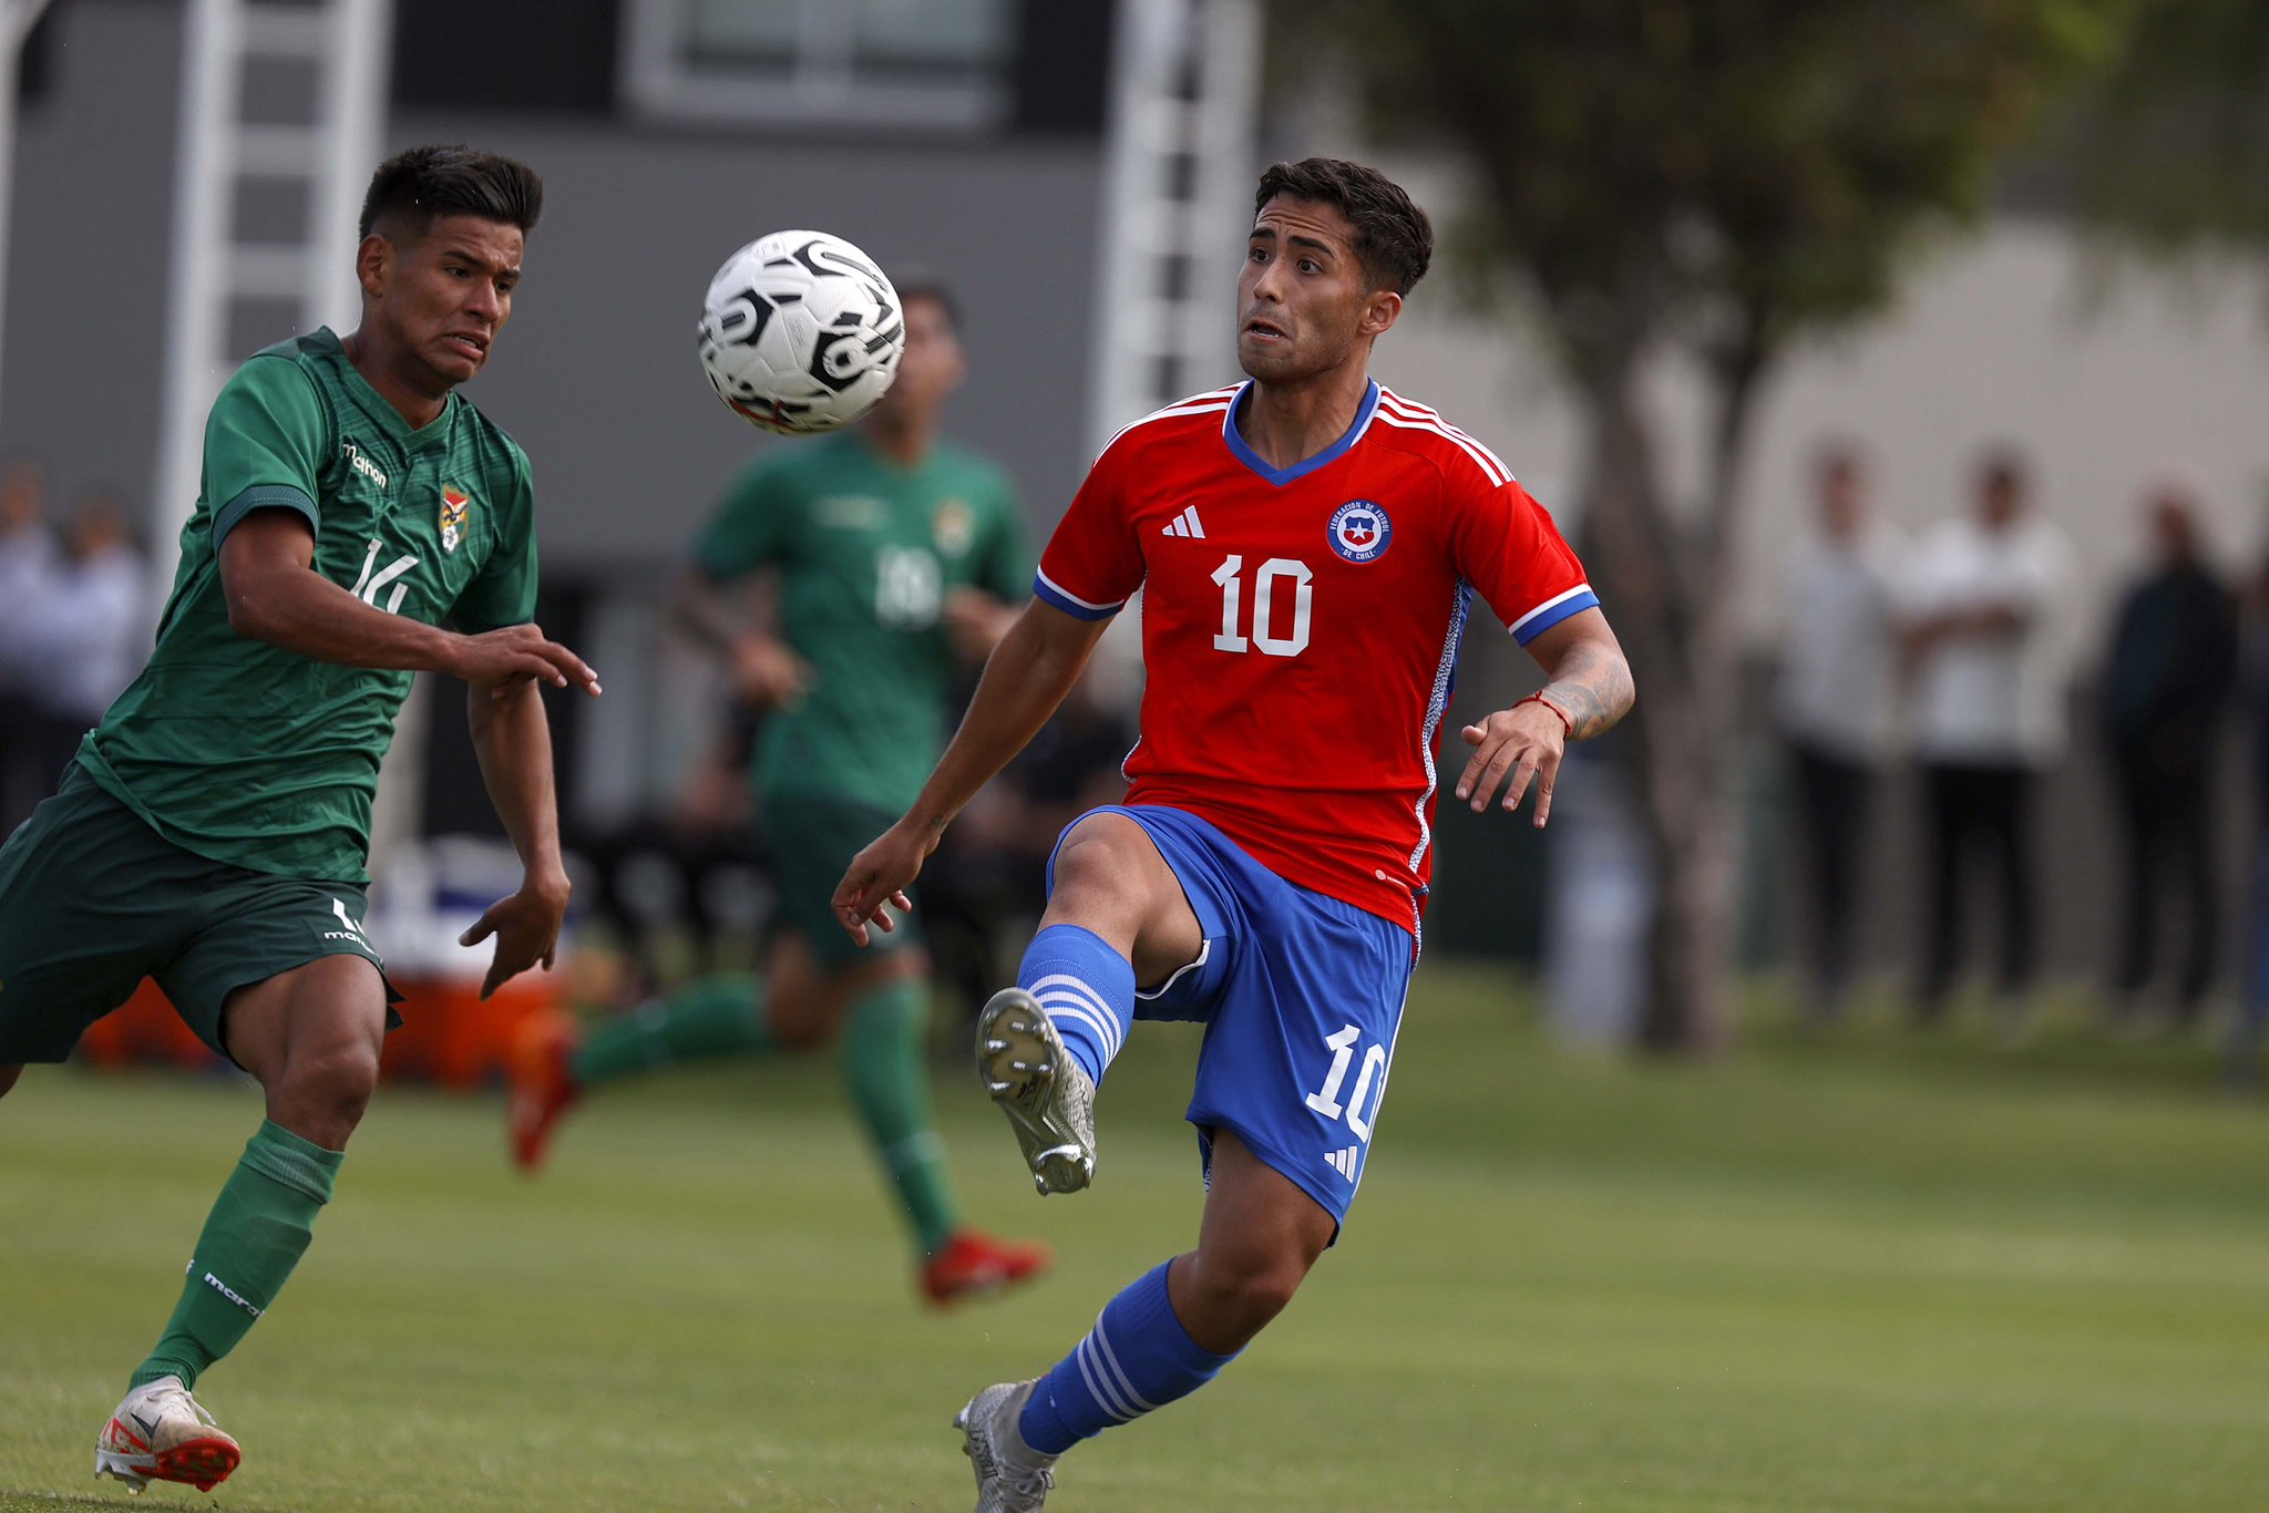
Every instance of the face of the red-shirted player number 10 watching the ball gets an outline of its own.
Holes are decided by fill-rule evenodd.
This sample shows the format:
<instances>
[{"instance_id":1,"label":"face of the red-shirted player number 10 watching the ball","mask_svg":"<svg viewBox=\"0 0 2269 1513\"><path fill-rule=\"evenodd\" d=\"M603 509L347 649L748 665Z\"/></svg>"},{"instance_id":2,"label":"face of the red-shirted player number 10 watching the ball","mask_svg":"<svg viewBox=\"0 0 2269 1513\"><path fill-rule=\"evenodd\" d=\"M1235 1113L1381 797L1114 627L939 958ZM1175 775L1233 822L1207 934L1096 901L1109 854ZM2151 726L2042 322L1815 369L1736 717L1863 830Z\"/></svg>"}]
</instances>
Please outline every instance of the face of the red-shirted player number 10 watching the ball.
<instances>
[{"instance_id":1,"label":"face of the red-shirted player number 10 watching the ball","mask_svg":"<svg viewBox=\"0 0 2269 1513\"><path fill-rule=\"evenodd\" d=\"M1237 363L1284 383L1359 361L1402 297L1370 286L1355 227L1336 204L1277 195L1262 206L1237 274Z\"/></svg>"}]
</instances>

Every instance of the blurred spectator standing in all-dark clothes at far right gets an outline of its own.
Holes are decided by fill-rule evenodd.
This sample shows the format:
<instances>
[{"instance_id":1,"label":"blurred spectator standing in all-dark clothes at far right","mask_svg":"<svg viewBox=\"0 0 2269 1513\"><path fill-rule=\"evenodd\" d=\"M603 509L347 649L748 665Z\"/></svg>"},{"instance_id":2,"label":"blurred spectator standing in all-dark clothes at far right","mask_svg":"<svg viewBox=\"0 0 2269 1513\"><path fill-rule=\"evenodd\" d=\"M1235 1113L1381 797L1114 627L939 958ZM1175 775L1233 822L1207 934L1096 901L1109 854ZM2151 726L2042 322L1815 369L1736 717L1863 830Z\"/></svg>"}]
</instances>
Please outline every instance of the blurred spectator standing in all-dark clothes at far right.
<instances>
[{"instance_id":1,"label":"blurred spectator standing in all-dark clothes at far right","mask_svg":"<svg viewBox=\"0 0 2269 1513\"><path fill-rule=\"evenodd\" d=\"M2103 660L2103 735L2126 835L2119 901L2119 1018L2151 982L2160 894L2187 914L2176 1023L2196 1021L2215 978L2221 887L2215 869L2215 749L2237 678L2237 610L2205 565L2196 495L2178 481L2144 497L2151 569L2119 603Z\"/></svg>"}]
</instances>

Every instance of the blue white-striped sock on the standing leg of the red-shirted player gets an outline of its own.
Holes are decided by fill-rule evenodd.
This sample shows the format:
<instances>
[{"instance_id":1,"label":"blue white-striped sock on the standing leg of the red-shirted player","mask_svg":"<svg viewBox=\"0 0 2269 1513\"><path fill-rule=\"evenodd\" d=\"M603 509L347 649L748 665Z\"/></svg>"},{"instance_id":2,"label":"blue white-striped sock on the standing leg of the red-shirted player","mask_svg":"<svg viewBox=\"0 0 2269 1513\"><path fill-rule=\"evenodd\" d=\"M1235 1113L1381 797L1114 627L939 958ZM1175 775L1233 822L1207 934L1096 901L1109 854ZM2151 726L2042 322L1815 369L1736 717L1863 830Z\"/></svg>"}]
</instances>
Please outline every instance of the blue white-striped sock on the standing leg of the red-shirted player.
<instances>
[{"instance_id":1,"label":"blue white-striped sock on the standing leg of the red-shirted player","mask_svg":"<svg viewBox=\"0 0 2269 1513\"><path fill-rule=\"evenodd\" d=\"M1189 1397L1237 1359L1189 1338L1166 1302L1166 1266L1173 1261L1112 1298L1078 1350L1032 1386L1017 1420L1026 1445L1060 1456L1112 1425Z\"/></svg>"}]
</instances>

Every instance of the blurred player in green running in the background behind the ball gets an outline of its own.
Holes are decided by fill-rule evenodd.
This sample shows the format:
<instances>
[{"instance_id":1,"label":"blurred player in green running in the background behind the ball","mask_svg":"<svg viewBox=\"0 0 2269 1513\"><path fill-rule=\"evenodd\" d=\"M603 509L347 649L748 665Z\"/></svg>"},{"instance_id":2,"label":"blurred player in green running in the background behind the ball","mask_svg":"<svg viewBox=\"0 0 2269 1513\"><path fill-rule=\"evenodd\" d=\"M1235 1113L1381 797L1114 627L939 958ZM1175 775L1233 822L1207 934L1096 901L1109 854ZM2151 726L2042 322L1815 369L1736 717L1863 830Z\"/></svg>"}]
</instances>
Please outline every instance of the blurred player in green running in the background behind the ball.
<instances>
[{"instance_id":1,"label":"blurred player in green running in the background behind the ball","mask_svg":"<svg viewBox=\"0 0 2269 1513\"><path fill-rule=\"evenodd\" d=\"M908 281L899 377L855 431L767 456L694 542L683 628L769 710L756 798L771 842L778 928L762 980L719 975L583 1034L531 1021L513 1055L513 1155L542 1161L558 1116L592 1087L669 1062L805 1050L842 1030L842 1073L919 1254L919 1286L953 1302L1030 1277L1037 1245L960 1223L923 1071L928 962L912 930L862 957L833 923L844 857L889 826L944 744L953 674L982 660L1030 583L1023 506L992 463L937 440L964 377L948 293ZM767 574L776 626L744 631L719 590Z\"/></svg>"}]
</instances>

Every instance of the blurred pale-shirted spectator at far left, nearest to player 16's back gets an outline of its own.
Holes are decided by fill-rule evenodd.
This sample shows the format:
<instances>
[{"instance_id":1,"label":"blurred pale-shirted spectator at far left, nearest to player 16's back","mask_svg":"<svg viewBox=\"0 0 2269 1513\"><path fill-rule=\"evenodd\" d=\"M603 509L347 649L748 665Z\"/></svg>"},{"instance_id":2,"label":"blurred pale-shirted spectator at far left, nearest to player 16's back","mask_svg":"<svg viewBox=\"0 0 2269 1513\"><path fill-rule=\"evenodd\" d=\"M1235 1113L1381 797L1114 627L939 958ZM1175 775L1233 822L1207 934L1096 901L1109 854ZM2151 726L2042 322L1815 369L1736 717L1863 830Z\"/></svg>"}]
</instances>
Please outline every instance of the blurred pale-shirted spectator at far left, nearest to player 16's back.
<instances>
[{"instance_id":1,"label":"blurred pale-shirted spectator at far left, nearest to player 16's back","mask_svg":"<svg viewBox=\"0 0 2269 1513\"><path fill-rule=\"evenodd\" d=\"M23 637L25 687L39 721L48 785L79 737L125 692L150 656L150 572L127 513L109 492L82 495L64 522L64 560Z\"/></svg>"}]
</instances>

